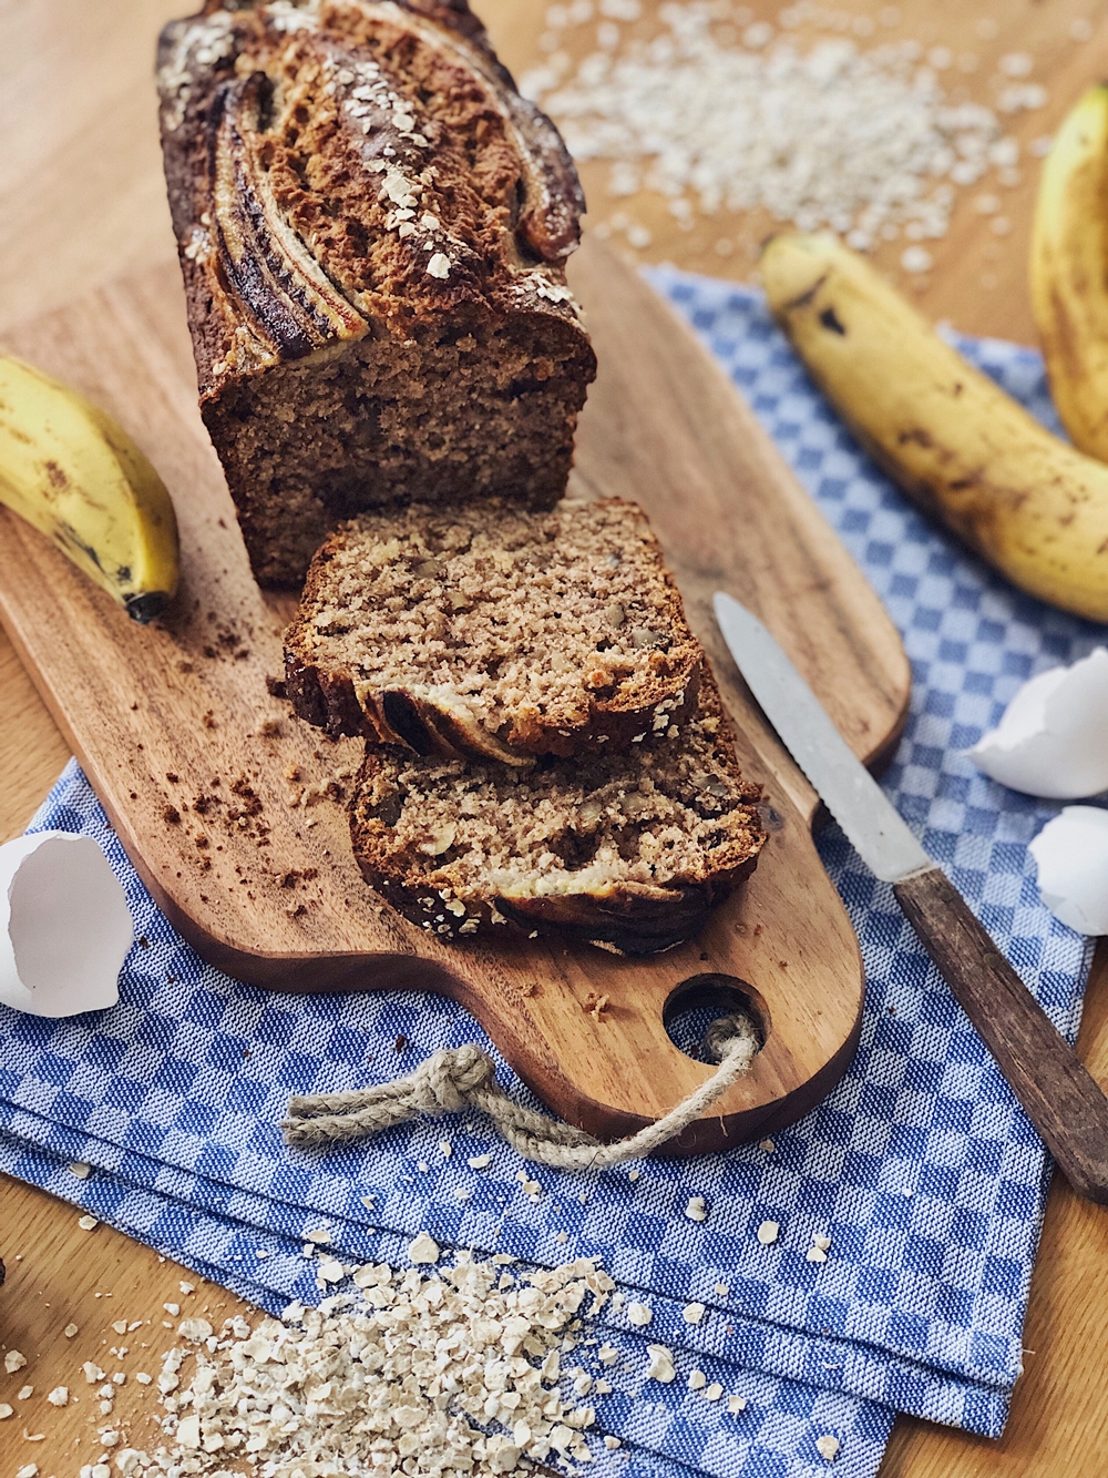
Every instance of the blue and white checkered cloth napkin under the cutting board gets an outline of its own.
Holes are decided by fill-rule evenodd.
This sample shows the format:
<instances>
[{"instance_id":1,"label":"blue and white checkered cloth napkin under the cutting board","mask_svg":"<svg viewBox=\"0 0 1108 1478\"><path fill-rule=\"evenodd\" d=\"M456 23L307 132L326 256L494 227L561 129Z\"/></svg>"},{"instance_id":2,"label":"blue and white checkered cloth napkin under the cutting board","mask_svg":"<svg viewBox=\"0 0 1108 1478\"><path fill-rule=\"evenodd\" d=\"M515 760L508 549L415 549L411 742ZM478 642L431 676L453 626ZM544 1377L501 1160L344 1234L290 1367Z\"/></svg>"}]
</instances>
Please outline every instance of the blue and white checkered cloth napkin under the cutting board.
<instances>
[{"instance_id":1,"label":"blue and white checkered cloth napkin under the cutting board","mask_svg":"<svg viewBox=\"0 0 1108 1478\"><path fill-rule=\"evenodd\" d=\"M756 293L671 269L652 276L897 621L914 692L886 791L1073 1039L1089 946L1042 906L1027 853L1056 807L987 780L963 751L1019 683L1086 655L1104 628L1012 591L916 514L811 387ZM959 347L1052 418L1037 355ZM597 1445L597 1471L808 1478L827 1471L815 1441L833 1435L835 1472L870 1478L895 1411L1000 1432L1049 1162L891 890L835 828L821 854L867 973L861 1045L842 1083L773 1147L592 1175L532 1166L536 1199L517 1179L519 1156L465 1119L322 1156L290 1151L276 1128L290 1094L389 1080L436 1048L488 1046L483 1033L446 1001L281 996L204 965L155 910L75 766L33 823L44 828L100 841L140 937L111 1011L46 1021L0 1008L1 1168L270 1310L322 1296L301 1253L319 1225L340 1255L397 1265L424 1228L443 1246L538 1265L603 1258L652 1321L632 1326L623 1301L589 1330L622 1355L603 1370L615 1389L595 1403L598 1428L629 1444L615 1456ZM482 1153L490 1165L470 1168ZM71 1160L95 1174L75 1179ZM685 1215L691 1196L705 1197L703 1222ZM755 1236L762 1221L780 1227L770 1246ZM820 1234L832 1239L823 1264L807 1259ZM684 1317L690 1302L706 1305L699 1323ZM644 1379L652 1342L675 1352L671 1385ZM581 1355L601 1373L595 1346ZM696 1369L746 1409L690 1389Z\"/></svg>"}]
</instances>

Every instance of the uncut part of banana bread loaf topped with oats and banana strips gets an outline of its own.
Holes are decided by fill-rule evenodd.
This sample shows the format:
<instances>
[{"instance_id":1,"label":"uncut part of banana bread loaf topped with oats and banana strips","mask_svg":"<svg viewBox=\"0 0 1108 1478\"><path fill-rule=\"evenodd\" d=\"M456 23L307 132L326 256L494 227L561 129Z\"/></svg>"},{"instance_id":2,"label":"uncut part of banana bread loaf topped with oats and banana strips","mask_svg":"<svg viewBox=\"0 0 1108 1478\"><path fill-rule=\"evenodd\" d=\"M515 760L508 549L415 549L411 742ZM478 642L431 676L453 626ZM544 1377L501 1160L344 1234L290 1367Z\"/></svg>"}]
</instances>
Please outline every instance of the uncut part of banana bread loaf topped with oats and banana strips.
<instances>
[{"instance_id":1,"label":"uncut part of banana bread loaf topped with oats and banana strips","mask_svg":"<svg viewBox=\"0 0 1108 1478\"><path fill-rule=\"evenodd\" d=\"M161 136L204 421L254 572L396 501L550 507L595 372L584 208L465 0L207 0Z\"/></svg>"}]
</instances>

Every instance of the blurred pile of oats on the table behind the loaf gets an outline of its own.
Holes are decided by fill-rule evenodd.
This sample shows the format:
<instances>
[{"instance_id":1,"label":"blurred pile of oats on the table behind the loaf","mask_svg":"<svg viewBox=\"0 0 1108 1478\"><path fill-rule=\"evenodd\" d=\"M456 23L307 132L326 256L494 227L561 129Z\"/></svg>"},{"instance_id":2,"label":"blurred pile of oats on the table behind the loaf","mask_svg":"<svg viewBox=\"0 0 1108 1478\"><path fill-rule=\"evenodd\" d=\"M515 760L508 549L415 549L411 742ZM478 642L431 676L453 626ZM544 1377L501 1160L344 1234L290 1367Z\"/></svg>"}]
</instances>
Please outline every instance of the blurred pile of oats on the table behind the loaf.
<instances>
[{"instance_id":1,"label":"blurred pile of oats on the table behind the loaf","mask_svg":"<svg viewBox=\"0 0 1108 1478\"><path fill-rule=\"evenodd\" d=\"M578 161L609 161L612 195L657 191L688 229L697 211L762 207L860 251L940 238L959 186L990 170L1018 183L1021 149L1002 118L1047 102L1025 53L1000 58L993 106L951 101L951 78L975 71L977 56L910 38L864 44L900 24L895 7L875 21L798 3L773 25L730 0L688 0L659 6L646 30L641 13L640 0L550 6L547 59L521 86ZM801 44L799 27L839 34ZM588 28L594 50L575 67ZM622 214L609 225L649 245ZM925 270L923 248L909 251L906 270Z\"/></svg>"}]
</instances>

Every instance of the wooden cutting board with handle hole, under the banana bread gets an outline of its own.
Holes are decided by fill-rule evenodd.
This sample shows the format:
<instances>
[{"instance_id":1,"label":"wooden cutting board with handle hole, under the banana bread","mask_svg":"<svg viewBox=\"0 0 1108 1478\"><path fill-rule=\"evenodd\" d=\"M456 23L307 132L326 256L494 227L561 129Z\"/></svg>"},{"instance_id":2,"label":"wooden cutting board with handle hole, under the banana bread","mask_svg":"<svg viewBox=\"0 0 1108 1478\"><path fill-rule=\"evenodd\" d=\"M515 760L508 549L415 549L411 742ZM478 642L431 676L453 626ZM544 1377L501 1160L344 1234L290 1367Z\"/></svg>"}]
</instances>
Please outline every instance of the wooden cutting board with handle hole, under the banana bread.
<instances>
[{"instance_id":1,"label":"wooden cutting board with handle hole, under the banana bread","mask_svg":"<svg viewBox=\"0 0 1108 1478\"><path fill-rule=\"evenodd\" d=\"M365 885L344 810L359 743L326 740L267 689L290 602L263 596L250 573L196 411L173 266L22 327L7 347L111 409L161 471L182 532L174 609L133 625L1 513L0 618L143 881L207 961L275 990L448 995L555 1113L604 1138L709 1075L668 1020L702 1001L746 1001L765 1045L675 1144L706 1151L827 1094L863 999L858 944L811 840L815 797L727 656L712 591L762 616L867 761L900 733L909 667L861 573L688 328L597 242L570 276L601 367L575 477L646 505L721 678L743 769L765 788L758 871L700 939L652 959L551 940L439 944Z\"/></svg>"}]
</instances>

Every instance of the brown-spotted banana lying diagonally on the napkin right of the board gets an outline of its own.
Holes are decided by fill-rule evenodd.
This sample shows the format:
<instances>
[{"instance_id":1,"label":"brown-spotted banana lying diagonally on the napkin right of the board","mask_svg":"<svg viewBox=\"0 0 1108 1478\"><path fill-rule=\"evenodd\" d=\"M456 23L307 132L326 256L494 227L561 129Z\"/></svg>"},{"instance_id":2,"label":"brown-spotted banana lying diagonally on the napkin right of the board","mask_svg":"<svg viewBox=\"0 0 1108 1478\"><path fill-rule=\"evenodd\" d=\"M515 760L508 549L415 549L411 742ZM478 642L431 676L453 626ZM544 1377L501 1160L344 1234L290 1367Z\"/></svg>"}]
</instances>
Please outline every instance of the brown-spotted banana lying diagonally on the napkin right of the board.
<instances>
[{"instance_id":1,"label":"brown-spotted banana lying diagonally on the napkin right of the board","mask_svg":"<svg viewBox=\"0 0 1108 1478\"><path fill-rule=\"evenodd\" d=\"M1021 590L1108 621L1108 467L1044 430L833 236L762 254L774 318L858 440Z\"/></svg>"}]
</instances>

